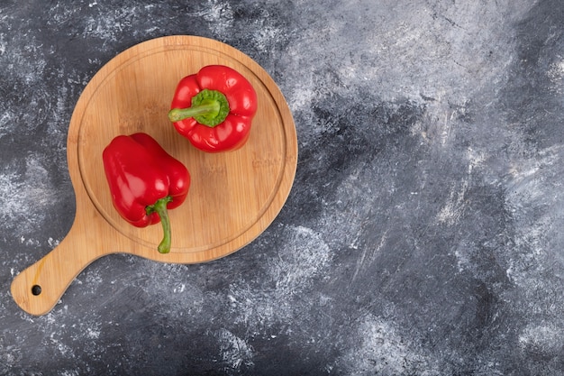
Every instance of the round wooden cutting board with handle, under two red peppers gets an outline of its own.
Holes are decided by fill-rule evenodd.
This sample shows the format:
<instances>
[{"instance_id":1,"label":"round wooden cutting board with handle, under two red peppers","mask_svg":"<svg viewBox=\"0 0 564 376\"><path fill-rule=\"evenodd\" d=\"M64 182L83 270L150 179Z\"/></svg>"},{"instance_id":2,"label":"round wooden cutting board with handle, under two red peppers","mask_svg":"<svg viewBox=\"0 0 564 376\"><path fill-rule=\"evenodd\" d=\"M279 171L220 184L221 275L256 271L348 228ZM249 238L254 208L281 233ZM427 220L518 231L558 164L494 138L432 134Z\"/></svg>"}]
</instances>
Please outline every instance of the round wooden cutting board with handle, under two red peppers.
<instances>
[{"instance_id":1,"label":"round wooden cutting board with handle, under two red peppers","mask_svg":"<svg viewBox=\"0 0 564 376\"><path fill-rule=\"evenodd\" d=\"M249 141L238 151L198 151L168 121L177 82L209 64L241 72L259 99ZM161 254L160 225L136 228L112 205L102 151L119 134L149 133L190 171L186 202L169 212L172 248ZM43 315L77 274L115 252L196 263L235 252L261 234L284 205L296 175L296 127L275 82L259 64L222 42L195 36L145 41L110 60L78 99L68 129L75 221L59 245L12 283L22 309Z\"/></svg>"}]
</instances>

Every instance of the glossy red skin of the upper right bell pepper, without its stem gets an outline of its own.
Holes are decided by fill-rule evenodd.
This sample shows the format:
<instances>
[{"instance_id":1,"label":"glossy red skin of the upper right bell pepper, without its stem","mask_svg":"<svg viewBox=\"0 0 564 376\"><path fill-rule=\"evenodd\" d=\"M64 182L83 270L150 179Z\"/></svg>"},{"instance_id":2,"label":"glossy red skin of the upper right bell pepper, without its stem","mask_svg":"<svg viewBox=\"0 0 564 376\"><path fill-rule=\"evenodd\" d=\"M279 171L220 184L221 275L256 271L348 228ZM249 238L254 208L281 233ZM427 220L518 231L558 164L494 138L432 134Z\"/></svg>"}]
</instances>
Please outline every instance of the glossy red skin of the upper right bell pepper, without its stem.
<instances>
[{"instance_id":1,"label":"glossy red skin of the upper right bell pepper, without its stem","mask_svg":"<svg viewBox=\"0 0 564 376\"><path fill-rule=\"evenodd\" d=\"M177 111L175 109L194 108L193 98L205 89L222 93L227 99L229 113L220 124L204 124L194 117L177 120L170 116ZM252 118L257 112L257 94L247 78L235 69L209 65L180 80L170 108L169 117L177 132L197 149L232 151L247 142Z\"/></svg>"}]
</instances>

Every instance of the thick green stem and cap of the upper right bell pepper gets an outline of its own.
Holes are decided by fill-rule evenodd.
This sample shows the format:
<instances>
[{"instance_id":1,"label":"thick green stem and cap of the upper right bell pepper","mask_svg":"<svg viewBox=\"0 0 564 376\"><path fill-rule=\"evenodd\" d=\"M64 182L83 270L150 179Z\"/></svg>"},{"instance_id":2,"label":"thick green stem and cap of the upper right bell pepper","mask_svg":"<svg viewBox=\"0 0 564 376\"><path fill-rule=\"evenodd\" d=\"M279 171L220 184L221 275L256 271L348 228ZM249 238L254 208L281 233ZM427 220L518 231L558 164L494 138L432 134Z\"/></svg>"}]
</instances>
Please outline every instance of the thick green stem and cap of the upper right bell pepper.
<instances>
[{"instance_id":1,"label":"thick green stem and cap of the upper right bell pepper","mask_svg":"<svg viewBox=\"0 0 564 376\"><path fill-rule=\"evenodd\" d=\"M168 112L168 119L172 123L176 123L193 117L199 124L214 127L222 124L229 112L227 97L217 90L205 88L192 97L192 106L171 109Z\"/></svg>"}]
</instances>

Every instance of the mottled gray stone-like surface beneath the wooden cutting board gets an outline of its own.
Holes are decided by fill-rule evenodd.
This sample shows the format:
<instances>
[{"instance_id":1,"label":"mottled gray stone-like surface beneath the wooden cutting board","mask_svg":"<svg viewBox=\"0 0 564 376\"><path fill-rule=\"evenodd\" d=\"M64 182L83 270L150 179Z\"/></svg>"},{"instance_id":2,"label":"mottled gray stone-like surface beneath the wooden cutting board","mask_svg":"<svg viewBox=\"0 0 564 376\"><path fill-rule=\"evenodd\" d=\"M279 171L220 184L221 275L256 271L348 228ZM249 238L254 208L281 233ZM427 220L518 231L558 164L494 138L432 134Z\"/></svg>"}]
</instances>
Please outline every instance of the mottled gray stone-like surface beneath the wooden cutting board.
<instances>
[{"instance_id":1,"label":"mottled gray stone-like surface beneath the wooden cutting board","mask_svg":"<svg viewBox=\"0 0 564 376\"><path fill-rule=\"evenodd\" d=\"M563 24L559 0L2 0L0 374L564 374ZM14 276L75 215L78 96L171 34L276 80L287 205L226 258L107 256L25 314Z\"/></svg>"}]
</instances>

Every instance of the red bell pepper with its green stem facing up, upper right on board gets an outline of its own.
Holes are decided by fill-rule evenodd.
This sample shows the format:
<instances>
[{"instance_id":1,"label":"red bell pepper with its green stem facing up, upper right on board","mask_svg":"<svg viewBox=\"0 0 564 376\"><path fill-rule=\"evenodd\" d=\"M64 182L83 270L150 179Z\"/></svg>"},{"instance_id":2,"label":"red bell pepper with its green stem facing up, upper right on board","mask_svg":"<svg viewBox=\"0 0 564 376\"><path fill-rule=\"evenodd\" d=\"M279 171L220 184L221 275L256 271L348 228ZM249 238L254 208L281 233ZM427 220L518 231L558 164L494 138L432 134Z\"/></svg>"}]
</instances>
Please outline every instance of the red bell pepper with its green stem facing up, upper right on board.
<instances>
[{"instance_id":1,"label":"red bell pepper with its green stem facing up, upper right on board","mask_svg":"<svg viewBox=\"0 0 564 376\"><path fill-rule=\"evenodd\" d=\"M182 78L168 118L202 151L239 149L249 137L257 93L247 78L223 65L208 65Z\"/></svg>"}]
</instances>

